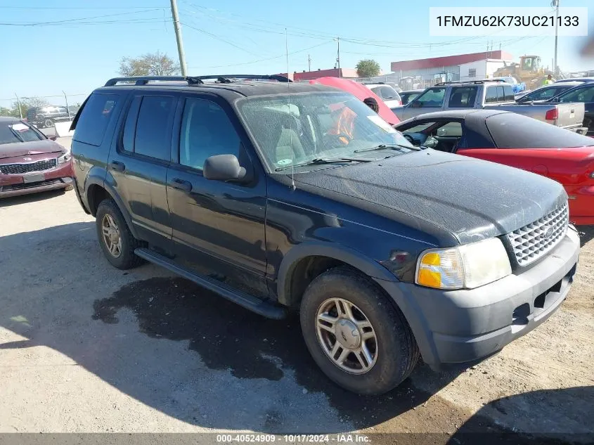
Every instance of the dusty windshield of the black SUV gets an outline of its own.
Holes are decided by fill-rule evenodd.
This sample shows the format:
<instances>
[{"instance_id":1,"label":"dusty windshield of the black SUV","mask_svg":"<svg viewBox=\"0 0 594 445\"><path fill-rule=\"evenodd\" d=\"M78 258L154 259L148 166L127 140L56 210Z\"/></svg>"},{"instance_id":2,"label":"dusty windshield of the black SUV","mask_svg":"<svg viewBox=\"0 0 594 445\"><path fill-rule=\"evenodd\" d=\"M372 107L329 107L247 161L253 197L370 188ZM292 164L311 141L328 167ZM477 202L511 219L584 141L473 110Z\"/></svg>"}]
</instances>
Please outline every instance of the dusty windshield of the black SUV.
<instances>
[{"instance_id":1,"label":"dusty windshield of the black SUV","mask_svg":"<svg viewBox=\"0 0 594 445\"><path fill-rule=\"evenodd\" d=\"M349 93L253 97L240 101L238 108L272 171L323 158L382 159L415 150ZM359 153L379 146L385 149Z\"/></svg>"}]
</instances>

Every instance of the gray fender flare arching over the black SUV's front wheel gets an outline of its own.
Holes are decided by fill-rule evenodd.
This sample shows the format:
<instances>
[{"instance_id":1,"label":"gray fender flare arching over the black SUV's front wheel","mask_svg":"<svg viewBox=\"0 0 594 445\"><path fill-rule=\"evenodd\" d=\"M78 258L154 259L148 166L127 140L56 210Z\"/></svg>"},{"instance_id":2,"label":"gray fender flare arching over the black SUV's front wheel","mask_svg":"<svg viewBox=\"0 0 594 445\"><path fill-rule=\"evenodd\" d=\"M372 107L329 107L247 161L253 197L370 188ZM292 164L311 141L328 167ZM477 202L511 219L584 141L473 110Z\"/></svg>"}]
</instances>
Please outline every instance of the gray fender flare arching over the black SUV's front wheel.
<instances>
[{"instance_id":1,"label":"gray fender flare arching over the black SUV's front wheel","mask_svg":"<svg viewBox=\"0 0 594 445\"><path fill-rule=\"evenodd\" d=\"M280 304L290 306L289 284L292 271L300 260L306 257L328 257L353 266L371 278L398 281L384 266L349 247L323 241L311 241L292 247L280 262L276 276L276 295Z\"/></svg>"}]
</instances>

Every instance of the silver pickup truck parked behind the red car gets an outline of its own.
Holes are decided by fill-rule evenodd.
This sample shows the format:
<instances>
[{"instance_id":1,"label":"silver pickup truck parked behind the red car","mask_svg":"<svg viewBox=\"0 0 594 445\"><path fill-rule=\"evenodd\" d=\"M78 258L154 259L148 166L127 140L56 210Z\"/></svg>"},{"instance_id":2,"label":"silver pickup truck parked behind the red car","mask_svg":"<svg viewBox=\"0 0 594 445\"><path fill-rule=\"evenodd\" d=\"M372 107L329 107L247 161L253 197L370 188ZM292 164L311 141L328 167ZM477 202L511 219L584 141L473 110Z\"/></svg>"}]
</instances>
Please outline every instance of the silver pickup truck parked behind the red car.
<instances>
[{"instance_id":1,"label":"silver pickup truck parked behind the red car","mask_svg":"<svg viewBox=\"0 0 594 445\"><path fill-rule=\"evenodd\" d=\"M586 127L582 127L583 103L517 104L514 101L512 86L496 80L435 84L420 93L414 101L392 108L392 111L400 120L406 120L427 112L459 108L497 108L533 117L580 134L586 134L587 131Z\"/></svg>"}]
</instances>

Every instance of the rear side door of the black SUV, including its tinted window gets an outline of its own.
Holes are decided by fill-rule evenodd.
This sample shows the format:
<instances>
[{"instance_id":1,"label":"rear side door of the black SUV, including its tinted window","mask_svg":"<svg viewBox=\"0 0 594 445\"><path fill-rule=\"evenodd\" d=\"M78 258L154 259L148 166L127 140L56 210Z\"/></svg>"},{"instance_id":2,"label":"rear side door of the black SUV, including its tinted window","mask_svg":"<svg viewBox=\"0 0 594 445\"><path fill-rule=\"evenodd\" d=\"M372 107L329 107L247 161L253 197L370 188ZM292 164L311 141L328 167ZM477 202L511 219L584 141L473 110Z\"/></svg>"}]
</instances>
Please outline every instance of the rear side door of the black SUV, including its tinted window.
<instances>
[{"instance_id":1,"label":"rear side door of the black SUV, including its tinted window","mask_svg":"<svg viewBox=\"0 0 594 445\"><path fill-rule=\"evenodd\" d=\"M140 238L165 251L172 238L166 181L177 103L169 93L132 94L105 179L129 207Z\"/></svg>"}]
</instances>

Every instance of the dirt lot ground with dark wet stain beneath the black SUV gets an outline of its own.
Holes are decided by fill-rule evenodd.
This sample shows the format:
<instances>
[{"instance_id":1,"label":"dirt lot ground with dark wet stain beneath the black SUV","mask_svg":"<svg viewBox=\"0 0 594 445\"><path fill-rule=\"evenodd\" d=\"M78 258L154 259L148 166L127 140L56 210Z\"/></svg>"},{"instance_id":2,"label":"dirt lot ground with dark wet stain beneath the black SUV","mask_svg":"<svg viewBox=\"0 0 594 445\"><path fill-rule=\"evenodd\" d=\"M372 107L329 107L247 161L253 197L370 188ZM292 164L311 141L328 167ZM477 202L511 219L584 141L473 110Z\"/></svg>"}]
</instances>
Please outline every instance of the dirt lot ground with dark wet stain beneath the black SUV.
<instances>
[{"instance_id":1,"label":"dirt lot ground with dark wet stain beneath the black SUV","mask_svg":"<svg viewBox=\"0 0 594 445\"><path fill-rule=\"evenodd\" d=\"M266 320L150 264L113 269L73 192L0 201L0 221L0 432L594 437L594 230L549 321L472 368L421 365L360 397L318 371L295 318ZM543 438L559 433L590 436ZM415 437L427 439L399 443Z\"/></svg>"}]
</instances>

